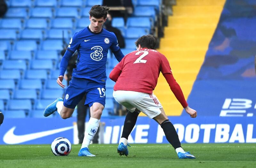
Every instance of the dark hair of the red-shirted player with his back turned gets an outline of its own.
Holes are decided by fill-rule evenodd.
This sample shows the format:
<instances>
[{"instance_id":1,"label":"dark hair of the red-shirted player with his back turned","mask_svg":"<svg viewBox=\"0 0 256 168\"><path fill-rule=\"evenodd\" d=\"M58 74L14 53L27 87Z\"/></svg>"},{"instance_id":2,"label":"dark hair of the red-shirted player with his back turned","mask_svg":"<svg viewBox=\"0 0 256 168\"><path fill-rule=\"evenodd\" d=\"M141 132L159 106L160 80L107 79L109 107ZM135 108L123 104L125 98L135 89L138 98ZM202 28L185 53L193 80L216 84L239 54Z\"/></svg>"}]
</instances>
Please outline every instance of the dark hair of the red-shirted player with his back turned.
<instances>
[{"instance_id":1,"label":"dark hair of the red-shirted player with his back turned","mask_svg":"<svg viewBox=\"0 0 256 168\"><path fill-rule=\"evenodd\" d=\"M155 49L156 48L156 37L153 35L141 36L136 42L136 47Z\"/></svg>"}]
</instances>

